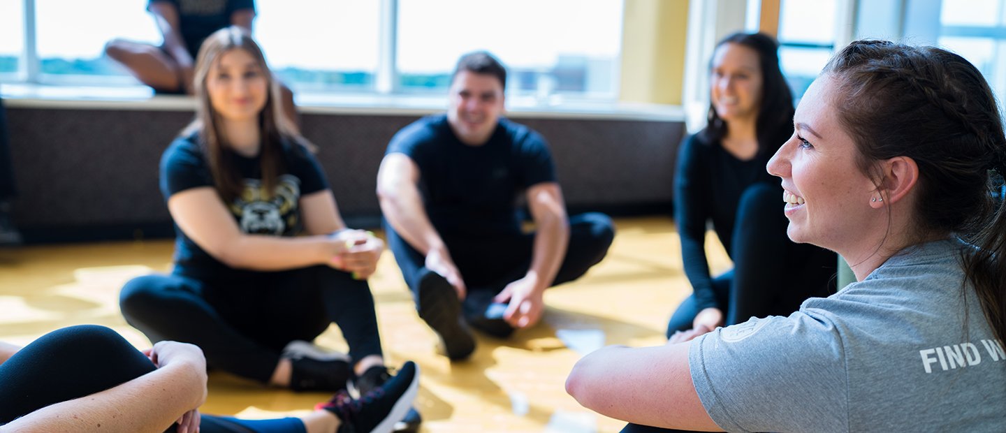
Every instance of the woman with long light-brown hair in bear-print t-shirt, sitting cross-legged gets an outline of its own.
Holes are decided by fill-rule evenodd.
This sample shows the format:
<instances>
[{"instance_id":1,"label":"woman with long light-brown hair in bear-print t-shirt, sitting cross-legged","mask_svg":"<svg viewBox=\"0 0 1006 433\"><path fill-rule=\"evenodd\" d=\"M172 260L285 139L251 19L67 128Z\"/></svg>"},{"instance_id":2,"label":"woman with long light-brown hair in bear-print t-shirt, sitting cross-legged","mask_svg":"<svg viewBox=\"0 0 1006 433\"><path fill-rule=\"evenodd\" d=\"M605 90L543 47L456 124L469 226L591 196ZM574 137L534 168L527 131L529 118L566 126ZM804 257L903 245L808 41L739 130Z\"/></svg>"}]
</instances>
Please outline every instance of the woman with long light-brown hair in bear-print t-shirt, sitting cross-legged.
<instances>
[{"instance_id":1,"label":"woman with long light-brown hair in bear-print t-shirt, sitting cross-legged","mask_svg":"<svg viewBox=\"0 0 1006 433\"><path fill-rule=\"evenodd\" d=\"M247 31L206 38L194 86L196 119L160 168L178 232L175 266L126 284L126 319L152 342L195 344L210 367L264 384L379 386L388 374L366 279L383 242L343 223ZM310 343L333 322L348 356Z\"/></svg>"}]
</instances>

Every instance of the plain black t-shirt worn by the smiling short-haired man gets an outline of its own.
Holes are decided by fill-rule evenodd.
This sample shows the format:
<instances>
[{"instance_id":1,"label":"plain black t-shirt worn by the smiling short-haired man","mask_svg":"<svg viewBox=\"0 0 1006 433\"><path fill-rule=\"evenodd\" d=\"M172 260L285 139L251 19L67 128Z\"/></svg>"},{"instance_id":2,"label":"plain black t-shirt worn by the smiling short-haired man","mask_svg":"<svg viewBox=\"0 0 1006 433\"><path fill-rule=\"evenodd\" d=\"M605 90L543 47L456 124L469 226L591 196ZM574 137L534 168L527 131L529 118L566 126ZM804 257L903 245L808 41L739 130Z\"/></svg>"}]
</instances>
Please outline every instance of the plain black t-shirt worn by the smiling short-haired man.
<instances>
[{"instance_id":1,"label":"plain black t-shirt worn by the smiling short-haired man","mask_svg":"<svg viewBox=\"0 0 1006 433\"><path fill-rule=\"evenodd\" d=\"M429 116L395 134L386 154L392 153L404 154L420 168L424 205L444 235L519 233L520 195L555 182L545 140L506 119L484 145L469 146L455 136L447 115Z\"/></svg>"}]
</instances>

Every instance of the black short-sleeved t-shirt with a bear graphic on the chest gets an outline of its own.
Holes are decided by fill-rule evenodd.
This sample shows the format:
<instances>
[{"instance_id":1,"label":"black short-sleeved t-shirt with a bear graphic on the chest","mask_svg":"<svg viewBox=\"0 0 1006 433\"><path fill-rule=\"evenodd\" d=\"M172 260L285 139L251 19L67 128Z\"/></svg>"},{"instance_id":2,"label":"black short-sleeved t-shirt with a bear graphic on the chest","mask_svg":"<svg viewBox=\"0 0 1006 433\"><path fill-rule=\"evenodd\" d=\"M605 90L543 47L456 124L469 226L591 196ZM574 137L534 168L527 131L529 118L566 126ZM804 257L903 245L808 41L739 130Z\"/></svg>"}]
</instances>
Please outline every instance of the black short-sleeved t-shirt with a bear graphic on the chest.
<instances>
[{"instance_id":1,"label":"black short-sleeved t-shirt with a bear graphic on the chest","mask_svg":"<svg viewBox=\"0 0 1006 433\"><path fill-rule=\"evenodd\" d=\"M161 193L167 201L172 195L192 188L212 187L213 179L199 146L198 135L179 137L161 157ZM262 185L259 157L245 158L230 153L234 167L244 179L244 190L225 206L244 233L273 236L297 236L303 230L300 198L328 189L328 181L318 161L304 147L283 146L286 173L281 175L274 194L266 194ZM196 245L177 225L175 273L193 277L226 277L248 271L233 269L216 260Z\"/></svg>"}]
</instances>

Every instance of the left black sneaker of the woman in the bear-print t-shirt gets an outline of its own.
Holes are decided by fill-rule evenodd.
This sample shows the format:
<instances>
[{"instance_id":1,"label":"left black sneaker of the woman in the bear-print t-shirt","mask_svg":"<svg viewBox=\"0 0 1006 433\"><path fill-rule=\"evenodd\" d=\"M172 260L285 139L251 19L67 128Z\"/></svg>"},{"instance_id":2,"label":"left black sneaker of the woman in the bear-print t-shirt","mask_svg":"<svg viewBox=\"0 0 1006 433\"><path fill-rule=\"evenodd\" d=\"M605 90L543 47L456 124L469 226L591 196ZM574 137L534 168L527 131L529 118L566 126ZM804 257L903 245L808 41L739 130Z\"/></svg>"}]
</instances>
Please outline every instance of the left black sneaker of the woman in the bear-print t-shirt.
<instances>
[{"instance_id":1,"label":"left black sneaker of the woman in the bear-print t-shirt","mask_svg":"<svg viewBox=\"0 0 1006 433\"><path fill-rule=\"evenodd\" d=\"M349 357L325 351L300 340L290 342L281 357L290 360L290 389L294 391L340 391L353 374Z\"/></svg>"}]
</instances>

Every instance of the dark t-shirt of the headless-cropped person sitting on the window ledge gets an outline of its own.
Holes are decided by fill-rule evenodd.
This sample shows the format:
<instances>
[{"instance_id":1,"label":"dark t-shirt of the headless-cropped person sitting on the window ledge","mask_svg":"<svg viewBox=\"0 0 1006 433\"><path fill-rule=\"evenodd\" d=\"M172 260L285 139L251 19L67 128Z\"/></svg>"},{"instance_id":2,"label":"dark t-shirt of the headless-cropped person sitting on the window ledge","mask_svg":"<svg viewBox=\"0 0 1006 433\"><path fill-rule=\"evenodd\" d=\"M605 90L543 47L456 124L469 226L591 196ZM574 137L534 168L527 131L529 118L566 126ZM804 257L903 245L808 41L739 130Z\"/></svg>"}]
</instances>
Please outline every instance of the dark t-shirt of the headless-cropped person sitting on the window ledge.
<instances>
[{"instance_id":1,"label":"dark t-shirt of the headless-cropped person sitting on the window ledge","mask_svg":"<svg viewBox=\"0 0 1006 433\"><path fill-rule=\"evenodd\" d=\"M255 11L255 0L149 0L147 10L157 2L171 3L178 9L178 31L193 59L207 36L230 25L235 11Z\"/></svg>"}]
</instances>

